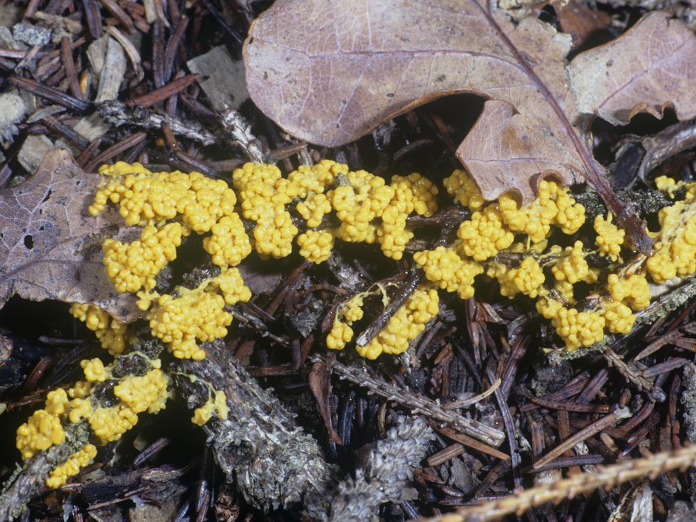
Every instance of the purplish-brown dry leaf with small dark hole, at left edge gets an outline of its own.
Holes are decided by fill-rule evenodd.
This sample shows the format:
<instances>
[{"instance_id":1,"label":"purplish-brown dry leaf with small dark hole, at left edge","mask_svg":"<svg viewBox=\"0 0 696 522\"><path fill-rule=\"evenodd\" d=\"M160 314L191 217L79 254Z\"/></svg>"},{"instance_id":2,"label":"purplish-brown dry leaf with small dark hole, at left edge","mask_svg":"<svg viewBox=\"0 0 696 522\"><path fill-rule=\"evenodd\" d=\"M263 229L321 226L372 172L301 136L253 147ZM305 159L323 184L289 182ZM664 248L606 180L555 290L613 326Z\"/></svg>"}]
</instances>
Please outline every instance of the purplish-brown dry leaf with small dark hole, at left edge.
<instances>
[{"instance_id":1,"label":"purplish-brown dry leaf with small dark hole, at left edge","mask_svg":"<svg viewBox=\"0 0 696 522\"><path fill-rule=\"evenodd\" d=\"M93 303L124 322L136 318L134 297L118 294L106 278L100 246L104 236L129 231L120 230L113 209L87 213L99 182L56 149L28 180L0 189L0 307L17 294Z\"/></svg>"}]
</instances>

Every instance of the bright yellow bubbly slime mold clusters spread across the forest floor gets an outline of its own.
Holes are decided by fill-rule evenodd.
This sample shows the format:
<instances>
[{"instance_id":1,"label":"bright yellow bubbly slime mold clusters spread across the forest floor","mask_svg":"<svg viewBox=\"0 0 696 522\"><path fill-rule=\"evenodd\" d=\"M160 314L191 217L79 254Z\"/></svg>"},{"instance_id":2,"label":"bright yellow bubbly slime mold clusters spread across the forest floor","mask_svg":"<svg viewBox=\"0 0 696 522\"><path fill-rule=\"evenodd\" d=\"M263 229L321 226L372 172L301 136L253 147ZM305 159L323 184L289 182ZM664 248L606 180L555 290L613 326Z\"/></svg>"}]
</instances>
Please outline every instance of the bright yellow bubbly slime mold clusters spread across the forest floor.
<instances>
[{"instance_id":1,"label":"bright yellow bubbly slime mold clusters spread across the forest floor","mask_svg":"<svg viewBox=\"0 0 696 522\"><path fill-rule=\"evenodd\" d=\"M606 333L631 331L634 313L650 304L650 281L663 283L696 272L696 183L667 177L658 178L656 187L674 202L659 211L660 229L653 232L656 242L649 256L631 251L610 214L596 216L592 227L583 226L585 208L553 180L539 182L537 198L529 205L519 205L508 194L487 202L463 169L446 177L443 186L453 200L450 206L465 207L468 219L459 223L448 244L411 248L411 255L409 218L429 218L447 199L438 201L436 185L420 173L395 175L387 182L323 160L283 177L276 166L248 163L232 173L232 187L200 173L153 173L123 162L103 166L100 173L103 183L90 214L118 205L124 223L141 228L133 242L104 241L106 276L118 292L136 294L152 337L175 358L205 358L199 343L228 335L230 307L252 298L239 264L252 252L262 260L285 258L294 242L299 255L315 264L325 262L338 242L347 242L379 245L386 258L422 270L422 282L385 326L356 346L358 354L370 359L408 349L438 314L441 298L475 297L479 279L496 281L503 298L531 300L525 306L534 306L564 349L574 350ZM192 235L203 236L203 249L218 271L195 288L171 285L164 292L166 282L159 274ZM594 264L592 258L603 262ZM387 306L392 284L375 283L339 303L326 347L351 344L356 323L374 311L367 300L381 296L381 305ZM585 287L582 294L579 285ZM79 473L95 457L97 445L118 440L140 414L161 411L171 394L159 355L133 349L138 338L129 325L93 304L74 303L70 312L115 359L106 365L100 358L82 361L84 380L49 392L44 408L17 429L17 448L26 460L65 442L68 424L89 425L90 443L49 473L49 487L60 487ZM123 371L122 361L133 358L139 361L136 370ZM191 419L197 425L227 415L223 390L204 384L208 400ZM104 395L115 398L104 402Z\"/></svg>"}]
</instances>

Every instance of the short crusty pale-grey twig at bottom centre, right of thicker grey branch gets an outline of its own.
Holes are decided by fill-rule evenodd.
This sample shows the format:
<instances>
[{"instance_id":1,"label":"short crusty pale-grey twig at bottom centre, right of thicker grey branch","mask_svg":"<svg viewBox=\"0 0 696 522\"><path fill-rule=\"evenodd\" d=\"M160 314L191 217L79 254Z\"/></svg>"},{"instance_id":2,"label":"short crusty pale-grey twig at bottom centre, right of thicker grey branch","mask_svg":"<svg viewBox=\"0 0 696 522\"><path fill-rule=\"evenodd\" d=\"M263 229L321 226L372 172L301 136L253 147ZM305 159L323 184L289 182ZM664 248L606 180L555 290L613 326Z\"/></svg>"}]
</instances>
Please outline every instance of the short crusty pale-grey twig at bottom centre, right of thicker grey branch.
<instances>
[{"instance_id":1,"label":"short crusty pale-grey twig at bottom centre, right of thicker grey branch","mask_svg":"<svg viewBox=\"0 0 696 522\"><path fill-rule=\"evenodd\" d=\"M425 457L433 438L432 429L422 417L400 418L398 425L370 451L365 465L356 470L355 479L349 477L338 484L329 521L367 522L380 504L409 500L413 490L406 487L406 482L413 478L413 469Z\"/></svg>"}]
</instances>

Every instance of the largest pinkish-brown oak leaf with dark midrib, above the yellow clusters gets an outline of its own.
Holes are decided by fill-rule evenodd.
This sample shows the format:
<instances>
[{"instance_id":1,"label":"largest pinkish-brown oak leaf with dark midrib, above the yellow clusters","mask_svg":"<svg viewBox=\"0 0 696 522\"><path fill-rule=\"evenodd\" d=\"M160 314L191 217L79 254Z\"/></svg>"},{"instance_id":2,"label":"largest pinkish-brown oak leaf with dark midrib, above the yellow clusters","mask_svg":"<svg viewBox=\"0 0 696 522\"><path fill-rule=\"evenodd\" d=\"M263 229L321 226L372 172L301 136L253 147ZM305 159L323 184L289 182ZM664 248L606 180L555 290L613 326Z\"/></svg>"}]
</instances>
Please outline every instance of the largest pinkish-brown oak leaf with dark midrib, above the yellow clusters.
<instances>
[{"instance_id":1,"label":"largest pinkish-brown oak leaf with dark midrib, above the yellow clusters","mask_svg":"<svg viewBox=\"0 0 696 522\"><path fill-rule=\"evenodd\" d=\"M497 22L562 103L557 71L570 38L537 19L516 30ZM413 106L471 92L500 100L457 151L484 196L516 189L527 200L530 176L553 170L574 182L582 171L544 95L474 1L279 1L254 22L244 57L255 103L306 141L342 145ZM541 136L551 139L539 146Z\"/></svg>"}]
</instances>

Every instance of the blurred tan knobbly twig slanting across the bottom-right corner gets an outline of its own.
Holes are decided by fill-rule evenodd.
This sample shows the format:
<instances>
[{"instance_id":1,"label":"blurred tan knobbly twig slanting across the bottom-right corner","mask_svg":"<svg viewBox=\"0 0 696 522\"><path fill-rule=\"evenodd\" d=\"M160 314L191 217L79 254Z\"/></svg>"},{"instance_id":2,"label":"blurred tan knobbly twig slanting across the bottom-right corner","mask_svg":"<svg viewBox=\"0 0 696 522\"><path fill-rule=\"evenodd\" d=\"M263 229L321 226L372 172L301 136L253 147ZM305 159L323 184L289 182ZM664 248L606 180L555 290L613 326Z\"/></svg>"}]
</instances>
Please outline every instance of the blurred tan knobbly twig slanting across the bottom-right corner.
<instances>
[{"instance_id":1,"label":"blurred tan knobbly twig slanting across the bottom-right corner","mask_svg":"<svg viewBox=\"0 0 696 522\"><path fill-rule=\"evenodd\" d=\"M596 466L592 473L581 473L551 484L526 489L500 500L462 507L456 513L437 516L429 519L429 522L483 522L497 520L513 513L521 515L527 509L542 504L556 504L581 493L592 493L599 488L611 489L630 480L654 480L662 473L686 470L693 466L696 466L696 446L689 446L673 452L656 453L645 459L629 460L612 466Z\"/></svg>"}]
</instances>

